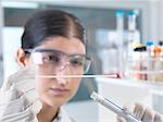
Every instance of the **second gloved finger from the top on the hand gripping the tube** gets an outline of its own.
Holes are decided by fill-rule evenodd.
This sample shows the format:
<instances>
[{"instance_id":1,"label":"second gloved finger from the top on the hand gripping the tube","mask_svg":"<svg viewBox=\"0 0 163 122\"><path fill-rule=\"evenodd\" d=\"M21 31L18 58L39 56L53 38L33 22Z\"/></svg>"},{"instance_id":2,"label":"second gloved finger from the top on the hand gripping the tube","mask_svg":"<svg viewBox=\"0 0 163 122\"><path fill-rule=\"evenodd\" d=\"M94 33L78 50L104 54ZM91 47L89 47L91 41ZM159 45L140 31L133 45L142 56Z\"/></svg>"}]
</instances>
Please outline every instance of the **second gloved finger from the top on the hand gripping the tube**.
<instances>
[{"instance_id":1,"label":"second gloved finger from the top on the hand gripping the tube","mask_svg":"<svg viewBox=\"0 0 163 122\"><path fill-rule=\"evenodd\" d=\"M142 117L142 122L154 122L155 112L146 108L145 114Z\"/></svg>"}]
</instances>

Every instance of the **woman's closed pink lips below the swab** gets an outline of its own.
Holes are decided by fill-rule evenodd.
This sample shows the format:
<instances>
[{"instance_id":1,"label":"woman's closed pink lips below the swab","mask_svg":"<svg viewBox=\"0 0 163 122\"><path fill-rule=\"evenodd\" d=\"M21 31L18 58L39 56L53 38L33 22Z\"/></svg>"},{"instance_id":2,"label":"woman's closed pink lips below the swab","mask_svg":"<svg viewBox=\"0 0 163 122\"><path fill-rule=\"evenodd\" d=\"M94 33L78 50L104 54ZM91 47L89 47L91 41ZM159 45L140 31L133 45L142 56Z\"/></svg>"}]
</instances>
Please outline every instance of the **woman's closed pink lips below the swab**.
<instances>
[{"instance_id":1,"label":"woman's closed pink lips below the swab","mask_svg":"<svg viewBox=\"0 0 163 122\"><path fill-rule=\"evenodd\" d=\"M50 88L50 94L52 96L64 96L68 93L70 90L66 88Z\"/></svg>"}]
</instances>

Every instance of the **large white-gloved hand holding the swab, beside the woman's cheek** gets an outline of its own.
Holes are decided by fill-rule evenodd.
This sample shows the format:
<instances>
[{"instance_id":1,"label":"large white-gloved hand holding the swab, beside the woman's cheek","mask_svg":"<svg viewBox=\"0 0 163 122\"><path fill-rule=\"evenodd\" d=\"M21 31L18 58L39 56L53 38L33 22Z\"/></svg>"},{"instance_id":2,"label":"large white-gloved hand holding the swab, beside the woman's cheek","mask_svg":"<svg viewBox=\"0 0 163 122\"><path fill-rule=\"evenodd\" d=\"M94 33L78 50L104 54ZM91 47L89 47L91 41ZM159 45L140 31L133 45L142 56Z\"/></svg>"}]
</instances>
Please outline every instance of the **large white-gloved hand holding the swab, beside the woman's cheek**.
<instances>
[{"instance_id":1,"label":"large white-gloved hand holding the swab, beside the woman's cheek","mask_svg":"<svg viewBox=\"0 0 163 122\"><path fill-rule=\"evenodd\" d=\"M33 66L21 69L3 83L0 90L0 122L34 122L41 109L35 90Z\"/></svg>"}]
</instances>

